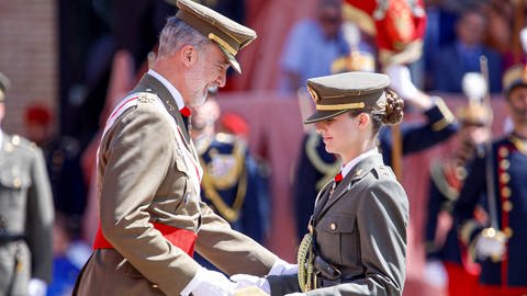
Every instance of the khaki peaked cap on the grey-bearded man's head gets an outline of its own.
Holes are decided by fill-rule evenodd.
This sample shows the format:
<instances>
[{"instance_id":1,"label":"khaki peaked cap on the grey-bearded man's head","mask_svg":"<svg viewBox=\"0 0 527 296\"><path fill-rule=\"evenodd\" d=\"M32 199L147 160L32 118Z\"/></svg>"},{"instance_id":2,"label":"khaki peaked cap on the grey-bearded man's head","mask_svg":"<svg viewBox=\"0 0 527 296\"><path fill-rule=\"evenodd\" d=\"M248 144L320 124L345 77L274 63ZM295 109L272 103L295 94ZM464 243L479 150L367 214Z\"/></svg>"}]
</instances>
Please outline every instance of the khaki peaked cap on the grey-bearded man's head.
<instances>
[{"instance_id":1,"label":"khaki peaked cap on the grey-bearded man's head","mask_svg":"<svg viewBox=\"0 0 527 296\"><path fill-rule=\"evenodd\" d=\"M178 0L177 5L176 16L217 43L233 68L240 73L235 56L257 37L256 32L192 0Z\"/></svg>"}]
</instances>

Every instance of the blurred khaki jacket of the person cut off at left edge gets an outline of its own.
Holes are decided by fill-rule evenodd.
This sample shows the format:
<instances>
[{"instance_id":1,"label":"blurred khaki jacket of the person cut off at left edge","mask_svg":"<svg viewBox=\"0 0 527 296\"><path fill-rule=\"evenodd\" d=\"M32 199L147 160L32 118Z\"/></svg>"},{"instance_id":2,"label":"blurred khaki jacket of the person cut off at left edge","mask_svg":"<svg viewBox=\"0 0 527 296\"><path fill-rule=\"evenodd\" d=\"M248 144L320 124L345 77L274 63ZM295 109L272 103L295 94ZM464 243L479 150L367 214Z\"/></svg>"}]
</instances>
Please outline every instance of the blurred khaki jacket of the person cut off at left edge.
<instances>
[{"instance_id":1,"label":"blurred khaki jacket of the person cut off at left edge","mask_svg":"<svg viewBox=\"0 0 527 296\"><path fill-rule=\"evenodd\" d=\"M51 282L53 221L52 190L42 150L20 136L2 133L0 295L26 295L32 277Z\"/></svg>"}]
</instances>

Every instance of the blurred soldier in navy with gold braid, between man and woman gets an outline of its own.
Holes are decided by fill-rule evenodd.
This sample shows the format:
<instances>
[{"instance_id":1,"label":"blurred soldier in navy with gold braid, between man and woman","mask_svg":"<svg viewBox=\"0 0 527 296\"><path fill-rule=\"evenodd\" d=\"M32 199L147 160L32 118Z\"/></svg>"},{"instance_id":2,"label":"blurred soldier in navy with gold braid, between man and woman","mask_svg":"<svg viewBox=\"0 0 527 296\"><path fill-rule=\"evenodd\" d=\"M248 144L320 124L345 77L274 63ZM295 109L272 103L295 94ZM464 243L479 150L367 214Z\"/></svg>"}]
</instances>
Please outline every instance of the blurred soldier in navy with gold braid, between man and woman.
<instances>
[{"instance_id":1,"label":"blurred soldier in navy with gold braid, between man and woman","mask_svg":"<svg viewBox=\"0 0 527 296\"><path fill-rule=\"evenodd\" d=\"M220 106L212 92L191 116L191 137L203 168L202 200L233 229L262 243L269 216L265 180L244 139L216 133L218 117ZM195 258L198 260L199 254ZM202 259L198 261L204 263Z\"/></svg>"}]
</instances>

